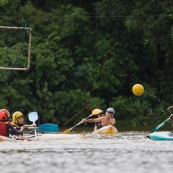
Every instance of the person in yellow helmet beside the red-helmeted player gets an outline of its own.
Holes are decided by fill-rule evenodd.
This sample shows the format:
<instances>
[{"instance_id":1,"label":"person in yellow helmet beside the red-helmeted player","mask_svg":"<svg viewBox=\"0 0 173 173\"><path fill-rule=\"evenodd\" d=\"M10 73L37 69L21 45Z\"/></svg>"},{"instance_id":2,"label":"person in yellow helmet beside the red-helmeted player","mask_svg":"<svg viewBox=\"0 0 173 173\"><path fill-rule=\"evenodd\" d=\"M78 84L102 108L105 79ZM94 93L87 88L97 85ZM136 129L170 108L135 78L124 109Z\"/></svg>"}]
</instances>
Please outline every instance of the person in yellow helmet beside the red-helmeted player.
<instances>
[{"instance_id":1,"label":"person in yellow helmet beside the red-helmeted player","mask_svg":"<svg viewBox=\"0 0 173 173\"><path fill-rule=\"evenodd\" d=\"M24 123L24 121L25 121L25 118L24 118L24 115L22 114L22 112L16 111L12 115L12 122L10 124L14 128L16 128L17 130L22 131L21 135L23 135L23 131L24 131L25 128L27 128L27 127L35 127L36 126L36 124L26 125ZM17 137L17 138L19 138L21 140L25 140L26 139L24 136L19 136L14 131L10 131L10 134L12 136L14 136L15 138Z\"/></svg>"}]
</instances>

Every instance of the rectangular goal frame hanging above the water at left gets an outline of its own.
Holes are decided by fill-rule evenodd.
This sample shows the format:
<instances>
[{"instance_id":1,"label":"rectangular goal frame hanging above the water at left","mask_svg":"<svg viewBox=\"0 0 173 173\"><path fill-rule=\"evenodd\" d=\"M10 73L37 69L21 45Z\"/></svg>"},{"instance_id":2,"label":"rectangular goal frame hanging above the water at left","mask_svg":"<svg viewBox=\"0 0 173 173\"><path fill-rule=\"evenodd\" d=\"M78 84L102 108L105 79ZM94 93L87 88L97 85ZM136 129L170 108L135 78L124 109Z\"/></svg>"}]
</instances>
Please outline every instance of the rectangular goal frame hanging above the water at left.
<instances>
[{"instance_id":1,"label":"rectangular goal frame hanging above the water at left","mask_svg":"<svg viewBox=\"0 0 173 173\"><path fill-rule=\"evenodd\" d=\"M29 70L32 29L0 26L0 70Z\"/></svg>"}]
</instances>

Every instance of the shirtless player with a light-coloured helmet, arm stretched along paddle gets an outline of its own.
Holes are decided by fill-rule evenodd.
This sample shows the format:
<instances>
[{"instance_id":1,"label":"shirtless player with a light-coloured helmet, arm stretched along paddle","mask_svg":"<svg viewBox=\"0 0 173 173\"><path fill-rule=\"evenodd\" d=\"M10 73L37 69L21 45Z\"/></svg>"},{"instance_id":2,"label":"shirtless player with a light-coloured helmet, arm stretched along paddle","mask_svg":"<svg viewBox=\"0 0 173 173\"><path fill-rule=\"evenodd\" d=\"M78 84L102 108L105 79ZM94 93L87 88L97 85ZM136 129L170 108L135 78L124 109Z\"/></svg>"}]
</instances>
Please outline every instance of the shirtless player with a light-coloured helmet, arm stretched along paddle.
<instances>
[{"instance_id":1,"label":"shirtless player with a light-coloured helmet, arm stretched along paddle","mask_svg":"<svg viewBox=\"0 0 173 173\"><path fill-rule=\"evenodd\" d=\"M113 108L108 108L106 110L105 116L95 118L95 119L83 119L82 123L93 123L93 122L98 122L100 123L99 128L108 126L108 125L114 125L115 124L115 119L113 118L115 114L115 110Z\"/></svg>"}]
</instances>

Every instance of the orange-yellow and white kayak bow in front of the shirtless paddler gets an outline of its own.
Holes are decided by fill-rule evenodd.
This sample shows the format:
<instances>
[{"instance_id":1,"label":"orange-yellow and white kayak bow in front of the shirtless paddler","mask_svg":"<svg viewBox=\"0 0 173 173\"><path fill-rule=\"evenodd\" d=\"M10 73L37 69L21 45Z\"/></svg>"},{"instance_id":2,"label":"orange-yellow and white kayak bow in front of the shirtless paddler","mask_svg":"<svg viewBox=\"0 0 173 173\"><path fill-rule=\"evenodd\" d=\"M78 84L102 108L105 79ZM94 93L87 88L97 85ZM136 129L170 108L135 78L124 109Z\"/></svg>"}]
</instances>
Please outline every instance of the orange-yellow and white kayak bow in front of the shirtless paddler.
<instances>
[{"instance_id":1,"label":"orange-yellow and white kayak bow in front of the shirtless paddler","mask_svg":"<svg viewBox=\"0 0 173 173\"><path fill-rule=\"evenodd\" d=\"M117 134L118 130L114 126L105 126L93 132L93 134L112 135Z\"/></svg>"}]
</instances>

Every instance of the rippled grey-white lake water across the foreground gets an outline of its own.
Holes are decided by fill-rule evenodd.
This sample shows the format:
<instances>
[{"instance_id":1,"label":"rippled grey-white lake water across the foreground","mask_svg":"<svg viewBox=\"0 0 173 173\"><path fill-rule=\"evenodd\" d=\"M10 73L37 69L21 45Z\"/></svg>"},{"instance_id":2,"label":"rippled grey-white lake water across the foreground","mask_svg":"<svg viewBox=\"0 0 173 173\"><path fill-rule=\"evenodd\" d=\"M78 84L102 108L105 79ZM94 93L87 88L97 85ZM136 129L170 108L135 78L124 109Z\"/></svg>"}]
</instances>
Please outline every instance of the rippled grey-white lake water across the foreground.
<instances>
[{"instance_id":1,"label":"rippled grey-white lake water across the foreground","mask_svg":"<svg viewBox=\"0 0 173 173\"><path fill-rule=\"evenodd\" d=\"M86 139L0 142L2 173L172 173L173 141L147 132Z\"/></svg>"}]
</instances>

